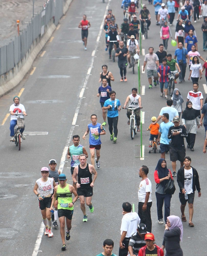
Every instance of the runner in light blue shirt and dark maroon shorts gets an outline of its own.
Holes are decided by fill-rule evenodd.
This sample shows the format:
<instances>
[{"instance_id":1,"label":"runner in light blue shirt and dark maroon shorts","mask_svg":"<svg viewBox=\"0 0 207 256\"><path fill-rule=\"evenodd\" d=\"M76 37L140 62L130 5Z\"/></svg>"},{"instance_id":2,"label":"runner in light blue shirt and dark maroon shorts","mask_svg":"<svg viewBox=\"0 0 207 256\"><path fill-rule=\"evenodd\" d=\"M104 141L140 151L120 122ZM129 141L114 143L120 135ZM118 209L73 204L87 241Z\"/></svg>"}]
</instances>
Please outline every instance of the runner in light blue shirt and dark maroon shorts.
<instances>
[{"instance_id":1,"label":"runner in light blue shirt and dark maroon shorts","mask_svg":"<svg viewBox=\"0 0 207 256\"><path fill-rule=\"evenodd\" d=\"M100 148L101 148L101 141L100 135L106 134L105 129L103 128L102 124L97 123L97 115L93 114L90 116L90 120L92 121L91 124L88 124L87 130L83 135L83 139L85 140L85 136L89 134L89 148L90 148L90 162L94 166L94 157L95 157L95 150L96 150L96 158L95 158L95 165L97 168L100 168Z\"/></svg>"}]
</instances>

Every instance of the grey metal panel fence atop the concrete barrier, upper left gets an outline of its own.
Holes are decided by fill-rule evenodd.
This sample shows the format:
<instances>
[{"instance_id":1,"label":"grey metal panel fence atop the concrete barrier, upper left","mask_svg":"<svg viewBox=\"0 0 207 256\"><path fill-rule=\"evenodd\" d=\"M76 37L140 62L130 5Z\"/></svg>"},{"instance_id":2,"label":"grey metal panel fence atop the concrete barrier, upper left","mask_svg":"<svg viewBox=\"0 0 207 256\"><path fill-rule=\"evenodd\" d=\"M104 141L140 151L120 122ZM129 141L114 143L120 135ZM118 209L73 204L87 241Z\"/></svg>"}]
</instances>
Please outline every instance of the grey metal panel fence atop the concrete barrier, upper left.
<instances>
[{"instance_id":1,"label":"grey metal panel fence atop the concrete barrier, upper left","mask_svg":"<svg viewBox=\"0 0 207 256\"><path fill-rule=\"evenodd\" d=\"M45 26L53 19L58 24L63 15L66 0L49 0L43 10L34 15L22 33L8 45L0 47L0 75L7 73L23 59L33 42L45 33Z\"/></svg>"}]
</instances>

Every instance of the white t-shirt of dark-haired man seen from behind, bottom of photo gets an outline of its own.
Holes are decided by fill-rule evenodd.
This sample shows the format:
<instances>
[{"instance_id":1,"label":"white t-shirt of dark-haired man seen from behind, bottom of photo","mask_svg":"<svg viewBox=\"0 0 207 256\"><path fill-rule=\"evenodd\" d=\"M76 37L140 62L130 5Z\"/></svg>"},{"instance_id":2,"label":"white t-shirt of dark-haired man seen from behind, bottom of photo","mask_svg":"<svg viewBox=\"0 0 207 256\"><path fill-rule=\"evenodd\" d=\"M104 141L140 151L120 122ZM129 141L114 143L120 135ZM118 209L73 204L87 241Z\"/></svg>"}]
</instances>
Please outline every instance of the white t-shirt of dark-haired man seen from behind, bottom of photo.
<instances>
[{"instance_id":1,"label":"white t-shirt of dark-haired man seen from behind, bottom of photo","mask_svg":"<svg viewBox=\"0 0 207 256\"><path fill-rule=\"evenodd\" d=\"M123 231L127 231L126 237L131 237L136 232L138 224L140 224L140 217L136 212L126 213L122 218L121 235Z\"/></svg>"}]
</instances>

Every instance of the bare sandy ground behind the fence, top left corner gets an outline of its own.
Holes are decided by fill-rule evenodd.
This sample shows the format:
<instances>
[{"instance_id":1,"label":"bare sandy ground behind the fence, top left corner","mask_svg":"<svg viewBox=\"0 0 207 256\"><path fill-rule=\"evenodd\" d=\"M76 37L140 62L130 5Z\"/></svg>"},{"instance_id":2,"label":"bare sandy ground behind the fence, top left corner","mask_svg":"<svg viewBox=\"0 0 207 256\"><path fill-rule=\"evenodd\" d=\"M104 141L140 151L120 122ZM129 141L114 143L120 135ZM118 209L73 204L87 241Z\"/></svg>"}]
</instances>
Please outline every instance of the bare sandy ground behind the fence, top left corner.
<instances>
[{"instance_id":1,"label":"bare sandy ground behind the fence, top left corner","mask_svg":"<svg viewBox=\"0 0 207 256\"><path fill-rule=\"evenodd\" d=\"M35 0L34 12L42 10L46 0ZM7 45L17 36L16 20L20 20L20 30L26 28L33 14L33 0L0 0L0 46Z\"/></svg>"}]
</instances>

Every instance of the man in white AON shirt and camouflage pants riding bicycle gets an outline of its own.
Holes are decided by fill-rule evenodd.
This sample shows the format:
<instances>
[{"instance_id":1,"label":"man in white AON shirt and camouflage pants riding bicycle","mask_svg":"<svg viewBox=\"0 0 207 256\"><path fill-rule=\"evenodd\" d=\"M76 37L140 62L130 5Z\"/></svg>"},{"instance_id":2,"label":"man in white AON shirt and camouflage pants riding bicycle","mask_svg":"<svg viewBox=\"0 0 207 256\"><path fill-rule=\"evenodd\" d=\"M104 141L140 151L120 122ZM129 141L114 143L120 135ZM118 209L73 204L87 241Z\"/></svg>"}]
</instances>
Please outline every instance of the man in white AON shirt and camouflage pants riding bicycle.
<instances>
[{"instance_id":1,"label":"man in white AON shirt and camouflage pants riding bicycle","mask_svg":"<svg viewBox=\"0 0 207 256\"><path fill-rule=\"evenodd\" d=\"M141 97L137 94L137 89L132 88L131 89L132 94L127 96L125 104L123 106L123 109L126 108L126 105L129 102L129 107L135 107L135 117L136 117L136 125L137 125L137 131L140 132L140 108L141 108ZM131 109L127 109L126 116L128 119L130 119L131 116ZM130 124L130 121L127 122L127 124Z\"/></svg>"}]
</instances>

